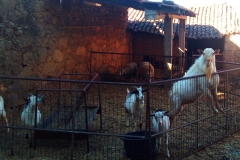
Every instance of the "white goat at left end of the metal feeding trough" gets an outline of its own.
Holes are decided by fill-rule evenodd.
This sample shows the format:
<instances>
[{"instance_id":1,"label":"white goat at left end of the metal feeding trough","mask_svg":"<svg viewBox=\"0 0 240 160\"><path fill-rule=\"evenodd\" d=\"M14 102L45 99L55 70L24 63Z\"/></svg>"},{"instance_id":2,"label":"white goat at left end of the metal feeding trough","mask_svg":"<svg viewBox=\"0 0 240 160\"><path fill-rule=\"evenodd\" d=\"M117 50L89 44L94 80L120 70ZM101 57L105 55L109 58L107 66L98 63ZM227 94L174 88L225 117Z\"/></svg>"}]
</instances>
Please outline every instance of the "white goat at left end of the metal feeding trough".
<instances>
[{"instance_id":1,"label":"white goat at left end of the metal feeding trough","mask_svg":"<svg viewBox=\"0 0 240 160\"><path fill-rule=\"evenodd\" d=\"M43 96L36 97L35 95L30 94L29 98L26 99L27 102L21 114L21 121L24 126L27 126L27 127L35 126L35 107L37 103L42 102L42 98ZM40 123L40 120L41 120L41 113L37 108L37 117L36 117L37 125ZM32 133L30 130L28 130L26 134L27 139L28 139L28 136L30 136L30 147L31 147Z\"/></svg>"}]
</instances>

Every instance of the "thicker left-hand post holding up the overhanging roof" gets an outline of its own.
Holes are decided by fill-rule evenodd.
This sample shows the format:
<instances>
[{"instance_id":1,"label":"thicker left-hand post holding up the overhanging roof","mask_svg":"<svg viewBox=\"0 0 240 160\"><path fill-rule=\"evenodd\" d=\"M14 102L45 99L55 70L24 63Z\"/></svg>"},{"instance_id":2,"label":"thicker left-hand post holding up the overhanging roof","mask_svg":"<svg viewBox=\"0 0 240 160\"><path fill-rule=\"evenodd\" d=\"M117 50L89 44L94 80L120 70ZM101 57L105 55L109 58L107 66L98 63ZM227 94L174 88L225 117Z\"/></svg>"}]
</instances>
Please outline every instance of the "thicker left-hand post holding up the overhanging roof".
<instances>
[{"instance_id":1,"label":"thicker left-hand post holding up the overhanging roof","mask_svg":"<svg viewBox=\"0 0 240 160\"><path fill-rule=\"evenodd\" d=\"M173 22L172 18L169 18L166 14L164 19L164 75L163 79L172 78L172 44L173 44Z\"/></svg>"}]
</instances>

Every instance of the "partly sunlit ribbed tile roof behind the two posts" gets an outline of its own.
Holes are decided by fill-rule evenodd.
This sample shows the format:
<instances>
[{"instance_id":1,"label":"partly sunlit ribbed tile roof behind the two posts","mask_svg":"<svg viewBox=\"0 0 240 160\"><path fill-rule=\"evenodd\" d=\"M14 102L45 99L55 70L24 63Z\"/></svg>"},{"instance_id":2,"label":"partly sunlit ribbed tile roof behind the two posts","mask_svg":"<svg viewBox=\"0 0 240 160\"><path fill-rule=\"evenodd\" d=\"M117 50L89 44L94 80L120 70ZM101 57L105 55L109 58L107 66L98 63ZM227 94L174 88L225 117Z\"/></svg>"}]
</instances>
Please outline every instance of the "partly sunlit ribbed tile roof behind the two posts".
<instances>
[{"instance_id":1,"label":"partly sunlit ribbed tile roof behind the two posts","mask_svg":"<svg viewBox=\"0 0 240 160\"><path fill-rule=\"evenodd\" d=\"M187 38L221 38L223 35L240 33L240 17L233 7L228 4L189 8L197 15L187 17ZM134 32L149 32L163 34L163 20L146 21L144 11L128 9L128 29ZM173 20L174 34L178 35L179 20Z\"/></svg>"}]
</instances>

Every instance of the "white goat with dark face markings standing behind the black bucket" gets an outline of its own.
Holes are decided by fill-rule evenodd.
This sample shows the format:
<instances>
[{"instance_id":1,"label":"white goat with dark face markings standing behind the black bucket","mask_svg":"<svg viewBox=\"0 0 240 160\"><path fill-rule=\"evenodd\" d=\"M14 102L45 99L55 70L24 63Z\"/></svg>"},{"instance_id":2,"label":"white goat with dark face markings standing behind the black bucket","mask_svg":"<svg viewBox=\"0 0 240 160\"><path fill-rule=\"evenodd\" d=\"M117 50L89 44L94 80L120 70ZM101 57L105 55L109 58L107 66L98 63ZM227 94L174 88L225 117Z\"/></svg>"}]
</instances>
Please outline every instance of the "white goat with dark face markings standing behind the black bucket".
<instances>
[{"instance_id":1,"label":"white goat with dark face markings standing behind the black bucket","mask_svg":"<svg viewBox=\"0 0 240 160\"><path fill-rule=\"evenodd\" d=\"M140 117L140 130L142 128L142 114L144 109L144 95L143 92L145 90L142 87L135 87L136 90L129 91L127 88L127 96L126 101L124 103L124 107L128 115L132 116L132 123L133 123L133 131L135 131L136 122L135 118ZM126 120L126 125L129 126L129 118Z\"/></svg>"}]
</instances>

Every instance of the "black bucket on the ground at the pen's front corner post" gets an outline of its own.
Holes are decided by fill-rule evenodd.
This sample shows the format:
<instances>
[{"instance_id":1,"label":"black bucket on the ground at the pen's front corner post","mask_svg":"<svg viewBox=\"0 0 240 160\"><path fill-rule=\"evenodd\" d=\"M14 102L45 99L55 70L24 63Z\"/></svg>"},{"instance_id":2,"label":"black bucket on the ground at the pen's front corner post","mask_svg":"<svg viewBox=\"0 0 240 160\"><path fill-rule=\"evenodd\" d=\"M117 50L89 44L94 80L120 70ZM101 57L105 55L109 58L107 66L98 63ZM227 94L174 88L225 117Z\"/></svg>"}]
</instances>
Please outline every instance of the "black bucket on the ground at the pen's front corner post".
<instances>
[{"instance_id":1,"label":"black bucket on the ground at the pen's front corner post","mask_svg":"<svg viewBox=\"0 0 240 160\"><path fill-rule=\"evenodd\" d=\"M155 132L151 132L151 135L155 134ZM145 131L136 131L130 132L125 135L128 136L145 136ZM136 137L121 137L124 142L124 149L127 158L132 158L133 160L143 159L145 156L145 139L136 138ZM151 150L150 150L150 159L156 159L156 137L151 137ZM146 158L148 159L148 158Z\"/></svg>"}]
</instances>

